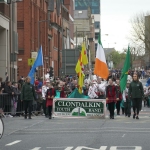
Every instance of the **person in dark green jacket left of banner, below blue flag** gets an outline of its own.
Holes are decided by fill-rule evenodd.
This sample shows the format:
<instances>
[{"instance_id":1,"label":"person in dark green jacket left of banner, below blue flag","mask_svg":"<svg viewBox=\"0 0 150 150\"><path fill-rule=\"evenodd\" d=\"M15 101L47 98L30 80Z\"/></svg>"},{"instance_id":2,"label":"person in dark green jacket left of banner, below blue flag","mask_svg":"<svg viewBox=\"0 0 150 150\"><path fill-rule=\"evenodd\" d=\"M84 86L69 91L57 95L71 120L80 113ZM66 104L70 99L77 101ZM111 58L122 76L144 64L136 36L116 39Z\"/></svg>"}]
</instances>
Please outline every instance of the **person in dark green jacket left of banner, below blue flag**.
<instances>
[{"instance_id":1,"label":"person in dark green jacket left of banner, below blue flag","mask_svg":"<svg viewBox=\"0 0 150 150\"><path fill-rule=\"evenodd\" d=\"M25 119L27 119L27 110L29 110L29 119L32 119L31 118L32 103L33 100L37 99L34 86L30 83L30 81L31 81L30 77L27 77L21 90L21 101L24 102Z\"/></svg>"}]
</instances>

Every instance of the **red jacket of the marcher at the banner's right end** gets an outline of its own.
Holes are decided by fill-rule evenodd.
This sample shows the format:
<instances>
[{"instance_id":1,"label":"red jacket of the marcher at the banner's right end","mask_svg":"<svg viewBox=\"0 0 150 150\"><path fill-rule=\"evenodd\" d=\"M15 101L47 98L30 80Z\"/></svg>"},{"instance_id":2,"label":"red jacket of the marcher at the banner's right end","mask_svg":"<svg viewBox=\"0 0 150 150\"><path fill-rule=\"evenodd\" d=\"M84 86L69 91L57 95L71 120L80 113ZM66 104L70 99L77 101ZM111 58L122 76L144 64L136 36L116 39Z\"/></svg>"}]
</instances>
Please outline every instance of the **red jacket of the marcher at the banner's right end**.
<instances>
[{"instance_id":1,"label":"red jacket of the marcher at the banner's right end","mask_svg":"<svg viewBox=\"0 0 150 150\"><path fill-rule=\"evenodd\" d=\"M117 98L119 97L118 97L118 92L117 92L117 88L115 85L108 85L106 87L106 98L108 98L106 103L117 102Z\"/></svg>"}]
</instances>

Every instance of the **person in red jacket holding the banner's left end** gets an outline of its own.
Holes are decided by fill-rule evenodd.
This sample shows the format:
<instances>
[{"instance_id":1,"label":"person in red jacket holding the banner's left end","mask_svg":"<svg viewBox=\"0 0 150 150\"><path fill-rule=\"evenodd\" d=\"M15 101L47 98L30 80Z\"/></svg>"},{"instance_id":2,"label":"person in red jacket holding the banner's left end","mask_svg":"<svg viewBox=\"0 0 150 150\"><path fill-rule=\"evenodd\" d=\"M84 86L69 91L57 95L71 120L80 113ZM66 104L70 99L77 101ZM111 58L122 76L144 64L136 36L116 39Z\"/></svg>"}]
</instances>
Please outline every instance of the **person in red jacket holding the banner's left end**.
<instances>
[{"instance_id":1,"label":"person in red jacket holding the banner's left end","mask_svg":"<svg viewBox=\"0 0 150 150\"><path fill-rule=\"evenodd\" d=\"M46 107L48 107L49 119L52 119L53 99L56 96L56 91L52 84L49 83L49 89L46 92Z\"/></svg>"}]
</instances>

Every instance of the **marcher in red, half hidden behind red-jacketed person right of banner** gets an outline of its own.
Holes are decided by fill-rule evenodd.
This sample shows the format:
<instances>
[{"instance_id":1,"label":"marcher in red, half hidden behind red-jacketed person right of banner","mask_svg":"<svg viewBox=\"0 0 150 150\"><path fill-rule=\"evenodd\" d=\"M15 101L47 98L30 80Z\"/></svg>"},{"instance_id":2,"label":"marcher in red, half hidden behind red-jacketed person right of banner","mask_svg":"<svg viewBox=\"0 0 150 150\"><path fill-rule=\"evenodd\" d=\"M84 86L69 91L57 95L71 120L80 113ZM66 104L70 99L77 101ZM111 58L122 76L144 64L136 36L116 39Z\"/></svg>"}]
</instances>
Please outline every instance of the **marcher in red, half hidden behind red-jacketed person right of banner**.
<instances>
[{"instance_id":1,"label":"marcher in red, half hidden behind red-jacketed person right of banner","mask_svg":"<svg viewBox=\"0 0 150 150\"><path fill-rule=\"evenodd\" d=\"M119 96L119 100L116 103L116 108L117 108L117 115L120 115L120 103L122 101L122 93L121 93L121 88L120 88L120 80L116 80L116 88Z\"/></svg>"}]
</instances>

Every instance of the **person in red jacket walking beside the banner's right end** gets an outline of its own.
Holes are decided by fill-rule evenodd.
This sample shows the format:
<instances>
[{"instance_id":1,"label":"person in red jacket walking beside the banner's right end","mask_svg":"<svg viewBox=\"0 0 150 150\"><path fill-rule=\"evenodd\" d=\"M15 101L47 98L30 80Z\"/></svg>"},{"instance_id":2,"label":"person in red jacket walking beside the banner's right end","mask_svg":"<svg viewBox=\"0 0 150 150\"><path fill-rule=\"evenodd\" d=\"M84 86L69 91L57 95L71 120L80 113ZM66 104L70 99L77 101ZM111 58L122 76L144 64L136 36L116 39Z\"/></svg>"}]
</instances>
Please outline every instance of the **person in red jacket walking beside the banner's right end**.
<instances>
[{"instance_id":1,"label":"person in red jacket walking beside the banner's right end","mask_svg":"<svg viewBox=\"0 0 150 150\"><path fill-rule=\"evenodd\" d=\"M110 119L114 119L114 107L117 100L119 100L116 86L113 84L112 79L108 80L109 85L106 87L106 103L110 112Z\"/></svg>"}]
</instances>

